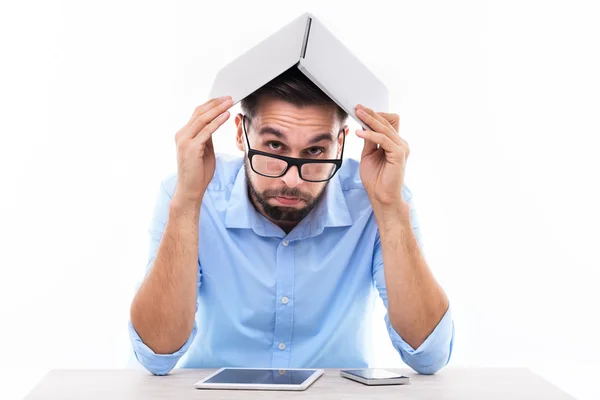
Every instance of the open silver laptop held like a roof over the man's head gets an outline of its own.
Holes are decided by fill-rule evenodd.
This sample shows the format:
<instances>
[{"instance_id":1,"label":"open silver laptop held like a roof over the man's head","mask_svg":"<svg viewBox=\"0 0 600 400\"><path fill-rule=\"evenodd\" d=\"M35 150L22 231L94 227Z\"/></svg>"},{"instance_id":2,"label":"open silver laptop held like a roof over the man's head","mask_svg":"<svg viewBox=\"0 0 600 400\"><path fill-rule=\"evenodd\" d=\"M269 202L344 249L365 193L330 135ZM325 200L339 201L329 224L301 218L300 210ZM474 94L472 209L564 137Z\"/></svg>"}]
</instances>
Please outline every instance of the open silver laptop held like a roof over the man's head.
<instances>
[{"instance_id":1,"label":"open silver laptop held like a roof over the man's head","mask_svg":"<svg viewBox=\"0 0 600 400\"><path fill-rule=\"evenodd\" d=\"M238 103L289 68L296 67L364 129L357 104L388 112L386 86L314 15L305 13L222 68L210 98Z\"/></svg>"}]
</instances>

